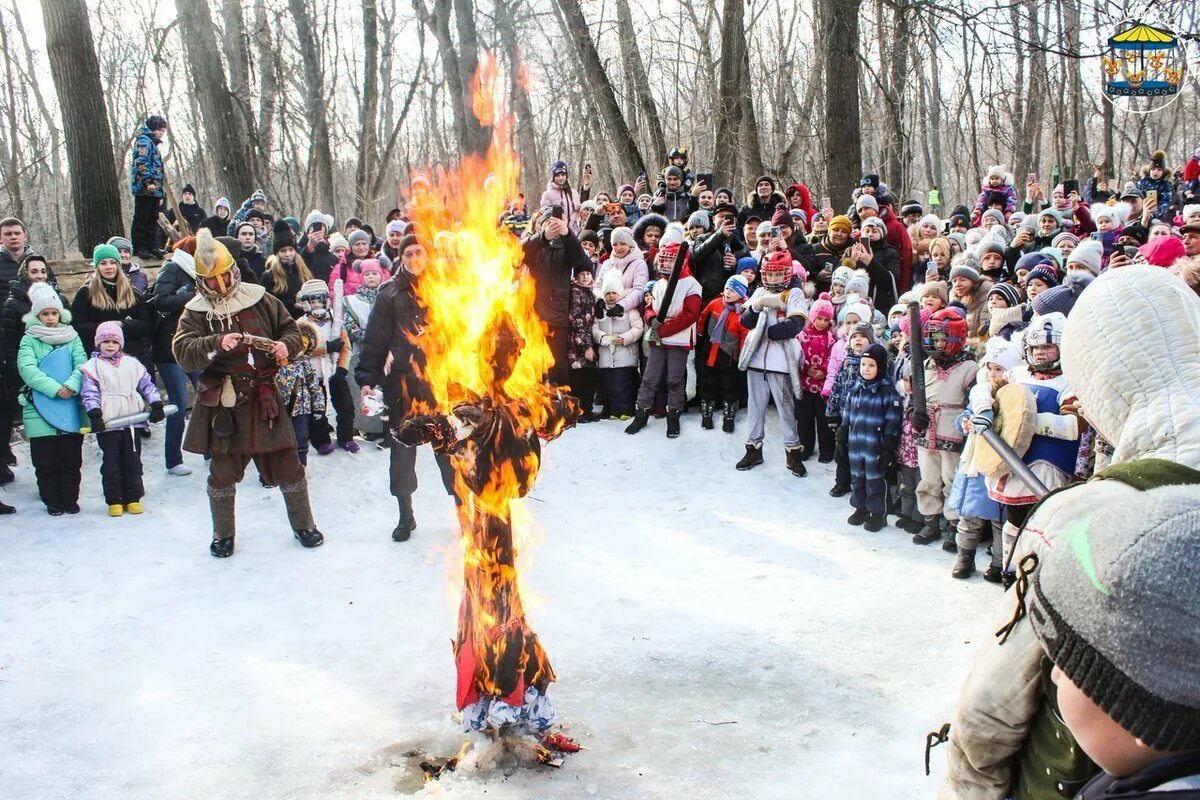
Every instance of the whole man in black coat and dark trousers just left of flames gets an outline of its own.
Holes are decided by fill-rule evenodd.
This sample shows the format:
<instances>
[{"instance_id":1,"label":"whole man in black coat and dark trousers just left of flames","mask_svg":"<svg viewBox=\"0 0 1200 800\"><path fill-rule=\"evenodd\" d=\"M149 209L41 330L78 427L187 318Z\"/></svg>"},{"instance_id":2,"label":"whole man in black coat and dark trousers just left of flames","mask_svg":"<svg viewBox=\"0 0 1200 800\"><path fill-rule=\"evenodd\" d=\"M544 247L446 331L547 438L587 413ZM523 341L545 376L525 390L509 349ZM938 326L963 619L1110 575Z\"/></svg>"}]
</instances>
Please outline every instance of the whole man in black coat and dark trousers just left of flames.
<instances>
[{"instance_id":1,"label":"whole man in black coat and dark trousers just left of flames","mask_svg":"<svg viewBox=\"0 0 1200 800\"><path fill-rule=\"evenodd\" d=\"M392 431L413 413L416 403L428 407L422 413L428 413L433 405L433 395L421 377L425 353L415 344L426 324L425 308L416 296L416 283L424 271L424 246L415 237L412 241L406 237L396 273L379 288L379 297L371 311L362 339L362 354L354 368L354 380L361 387L359 391L364 401L374 393L377 386L383 390L383 399L388 405L388 427ZM455 475L450 457L434 453L434 458L442 471L442 485L454 497ZM416 447L394 441L390 461L391 493L400 506L400 522L391 531L391 539L403 542L416 529L416 519L413 517Z\"/></svg>"}]
</instances>

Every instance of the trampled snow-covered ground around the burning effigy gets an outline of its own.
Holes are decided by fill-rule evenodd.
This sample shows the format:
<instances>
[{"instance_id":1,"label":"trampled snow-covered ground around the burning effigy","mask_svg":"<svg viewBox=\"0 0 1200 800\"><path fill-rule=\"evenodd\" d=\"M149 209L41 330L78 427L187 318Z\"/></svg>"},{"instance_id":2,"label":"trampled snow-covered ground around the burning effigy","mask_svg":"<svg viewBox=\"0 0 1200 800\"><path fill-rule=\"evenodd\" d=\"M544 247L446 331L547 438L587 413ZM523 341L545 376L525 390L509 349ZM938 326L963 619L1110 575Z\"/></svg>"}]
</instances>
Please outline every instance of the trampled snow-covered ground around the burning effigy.
<instances>
[{"instance_id":1,"label":"trampled snow-covered ground around the burning effigy","mask_svg":"<svg viewBox=\"0 0 1200 800\"><path fill-rule=\"evenodd\" d=\"M850 528L832 465L738 473L742 431L546 447L528 501L545 542L530 618L551 696L588 751L560 770L448 776L425 795L928 798L1000 590L895 528ZM739 427L744 423L739 420ZM395 798L409 746L457 748L448 590L455 523L432 457L420 528L390 540L386 453L314 457L326 543L302 549L276 491L241 486L238 552L208 554L204 470L146 453L146 513L109 519L85 447L83 513L47 516L28 447L0 493L0 796ZM985 557L980 554L979 564ZM401 742L398 747L385 750Z\"/></svg>"}]
</instances>

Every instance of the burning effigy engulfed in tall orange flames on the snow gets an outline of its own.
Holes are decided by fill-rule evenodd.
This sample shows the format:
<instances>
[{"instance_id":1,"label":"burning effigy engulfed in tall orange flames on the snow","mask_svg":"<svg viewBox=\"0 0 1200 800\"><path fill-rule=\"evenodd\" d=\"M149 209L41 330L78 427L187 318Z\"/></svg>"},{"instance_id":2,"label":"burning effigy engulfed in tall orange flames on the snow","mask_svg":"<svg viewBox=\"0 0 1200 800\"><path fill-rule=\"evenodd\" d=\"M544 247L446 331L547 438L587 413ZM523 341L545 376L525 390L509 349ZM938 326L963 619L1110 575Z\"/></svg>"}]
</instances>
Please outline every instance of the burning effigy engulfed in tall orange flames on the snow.
<instances>
[{"instance_id":1,"label":"burning effigy engulfed in tall orange flames on the snow","mask_svg":"<svg viewBox=\"0 0 1200 800\"><path fill-rule=\"evenodd\" d=\"M475 729L511 723L544 733L554 673L524 616L518 554L530 527L521 498L540 467L538 439L560 434L577 407L542 379L553 356L534 284L518 240L498 224L518 192L518 161L491 55L472 86L475 113L491 127L487 154L413 180L413 222L432 243L415 290L426 308L418 344L434 398L414 414L439 420L428 440L451 453L462 500L458 709Z\"/></svg>"}]
</instances>

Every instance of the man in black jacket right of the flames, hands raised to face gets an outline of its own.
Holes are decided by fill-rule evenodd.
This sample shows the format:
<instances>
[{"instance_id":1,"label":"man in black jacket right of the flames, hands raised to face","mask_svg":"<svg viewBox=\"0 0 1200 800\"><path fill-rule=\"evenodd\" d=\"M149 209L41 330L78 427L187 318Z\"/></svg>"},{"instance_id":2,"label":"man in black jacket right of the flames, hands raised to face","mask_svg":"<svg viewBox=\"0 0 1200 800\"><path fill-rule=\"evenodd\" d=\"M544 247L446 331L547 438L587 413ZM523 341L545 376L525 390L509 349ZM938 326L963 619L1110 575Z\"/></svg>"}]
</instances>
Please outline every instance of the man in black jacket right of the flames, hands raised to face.
<instances>
[{"instance_id":1,"label":"man in black jacket right of the flames, hands raised to face","mask_svg":"<svg viewBox=\"0 0 1200 800\"><path fill-rule=\"evenodd\" d=\"M560 206L553 206L541 230L526 240L523 247L524 265L536 288L533 307L548 327L546 343L554 356L546 378L556 386L565 386L570 383L566 344L571 324L571 273L576 265L587 260L587 254L566 227Z\"/></svg>"}]
</instances>

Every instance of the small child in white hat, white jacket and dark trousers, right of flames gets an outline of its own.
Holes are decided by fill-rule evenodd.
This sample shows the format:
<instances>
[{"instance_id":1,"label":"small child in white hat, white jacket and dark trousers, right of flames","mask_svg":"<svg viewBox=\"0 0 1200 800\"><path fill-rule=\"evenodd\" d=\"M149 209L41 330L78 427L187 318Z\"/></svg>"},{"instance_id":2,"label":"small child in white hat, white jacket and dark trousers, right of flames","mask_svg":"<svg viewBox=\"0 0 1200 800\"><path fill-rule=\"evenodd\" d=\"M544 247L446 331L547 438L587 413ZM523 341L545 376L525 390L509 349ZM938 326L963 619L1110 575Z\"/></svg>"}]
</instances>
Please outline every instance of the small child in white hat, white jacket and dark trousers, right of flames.
<instances>
[{"instance_id":1,"label":"small child in white hat, white jacket and dark trousers, right of flames","mask_svg":"<svg viewBox=\"0 0 1200 800\"><path fill-rule=\"evenodd\" d=\"M605 273L600 294L604 311L592 324L592 339L599 348L599 389L605 402L601 417L628 420L637 396L637 343L644 326L636 308L625 311L620 305L625 284L618 270Z\"/></svg>"}]
</instances>

